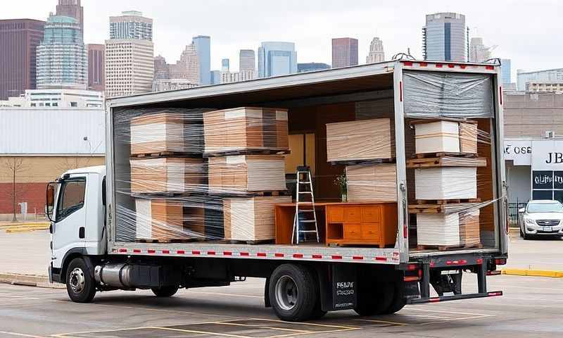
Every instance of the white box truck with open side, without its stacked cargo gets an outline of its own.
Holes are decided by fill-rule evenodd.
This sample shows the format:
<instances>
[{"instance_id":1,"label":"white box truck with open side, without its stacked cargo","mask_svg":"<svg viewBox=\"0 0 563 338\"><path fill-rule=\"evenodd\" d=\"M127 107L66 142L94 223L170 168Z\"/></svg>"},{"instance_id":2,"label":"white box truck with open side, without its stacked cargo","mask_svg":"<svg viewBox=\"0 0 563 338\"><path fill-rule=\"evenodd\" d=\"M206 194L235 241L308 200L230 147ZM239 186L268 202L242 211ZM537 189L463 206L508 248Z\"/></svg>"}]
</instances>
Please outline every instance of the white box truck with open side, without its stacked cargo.
<instances>
[{"instance_id":1,"label":"white box truck with open side, without its stacked cargo","mask_svg":"<svg viewBox=\"0 0 563 338\"><path fill-rule=\"evenodd\" d=\"M106 165L68 170L46 189L50 280L66 284L72 301L85 303L96 292L115 289L172 296L179 288L227 286L261 277L266 280L266 306L283 320L320 318L344 309L388 314L407 303L500 296L502 291L488 291L486 277L498 274L497 266L507 259L501 86L498 64L401 59L109 99ZM134 218L127 218L135 212L134 199L126 193L130 182L124 178L130 175L129 144L118 137L123 114L241 106L289 109L290 134L308 119L322 130L327 121L391 118L398 220L394 245L135 240ZM478 169L480 200L473 201L470 211L480 211L478 245L417 246L417 218L410 209L417 203L412 197L415 175L407 159L414 152L410 121L421 118L472 119L479 123L479 142L485 135L479 156L487 158L487 167ZM319 139L317 151L322 151ZM319 172L327 162L317 160ZM451 207L437 205L438 213ZM472 275L479 291L462 292L462 276Z\"/></svg>"}]
</instances>

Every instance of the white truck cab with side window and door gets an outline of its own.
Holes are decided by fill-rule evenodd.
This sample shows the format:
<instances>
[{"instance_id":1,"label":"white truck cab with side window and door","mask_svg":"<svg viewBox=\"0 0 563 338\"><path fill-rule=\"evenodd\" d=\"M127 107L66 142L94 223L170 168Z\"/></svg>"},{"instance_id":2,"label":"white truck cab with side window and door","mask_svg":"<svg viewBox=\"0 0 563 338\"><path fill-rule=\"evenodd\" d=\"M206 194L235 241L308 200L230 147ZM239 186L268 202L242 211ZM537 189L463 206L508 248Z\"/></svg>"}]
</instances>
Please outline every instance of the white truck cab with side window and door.
<instances>
[{"instance_id":1,"label":"white truck cab with side window and door","mask_svg":"<svg viewBox=\"0 0 563 338\"><path fill-rule=\"evenodd\" d=\"M106 253L105 185L105 165L68 170L47 185L51 282L65 282L72 258Z\"/></svg>"}]
</instances>

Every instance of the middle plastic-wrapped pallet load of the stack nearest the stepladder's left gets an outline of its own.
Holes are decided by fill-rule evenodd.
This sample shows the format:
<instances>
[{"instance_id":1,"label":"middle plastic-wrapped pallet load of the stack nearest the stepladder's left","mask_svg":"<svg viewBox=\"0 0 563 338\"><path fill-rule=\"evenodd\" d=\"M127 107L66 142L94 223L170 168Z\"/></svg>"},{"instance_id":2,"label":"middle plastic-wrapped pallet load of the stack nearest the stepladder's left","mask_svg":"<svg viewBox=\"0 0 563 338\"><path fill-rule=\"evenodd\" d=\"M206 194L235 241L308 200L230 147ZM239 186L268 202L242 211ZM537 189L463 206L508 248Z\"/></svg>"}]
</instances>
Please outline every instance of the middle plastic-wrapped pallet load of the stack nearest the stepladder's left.
<instances>
[{"instance_id":1,"label":"middle plastic-wrapped pallet load of the stack nearest the stepladder's left","mask_svg":"<svg viewBox=\"0 0 563 338\"><path fill-rule=\"evenodd\" d=\"M238 155L209 158L209 192L211 193L285 189L284 156Z\"/></svg>"}]
</instances>

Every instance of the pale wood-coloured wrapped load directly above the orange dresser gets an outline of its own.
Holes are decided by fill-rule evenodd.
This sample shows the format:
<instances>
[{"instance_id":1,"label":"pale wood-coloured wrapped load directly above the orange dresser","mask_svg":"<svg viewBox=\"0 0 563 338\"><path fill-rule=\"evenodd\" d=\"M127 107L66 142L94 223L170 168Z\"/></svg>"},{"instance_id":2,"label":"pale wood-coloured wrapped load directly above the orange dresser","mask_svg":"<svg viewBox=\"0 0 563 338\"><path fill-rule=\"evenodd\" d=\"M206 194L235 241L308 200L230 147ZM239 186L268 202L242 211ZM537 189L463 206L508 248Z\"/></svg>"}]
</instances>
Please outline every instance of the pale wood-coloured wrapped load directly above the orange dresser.
<instances>
[{"instance_id":1,"label":"pale wood-coloured wrapped load directly above the orange dresser","mask_svg":"<svg viewBox=\"0 0 563 338\"><path fill-rule=\"evenodd\" d=\"M397 201L395 163L346 165L348 201Z\"/></svg>"}]
</instances>

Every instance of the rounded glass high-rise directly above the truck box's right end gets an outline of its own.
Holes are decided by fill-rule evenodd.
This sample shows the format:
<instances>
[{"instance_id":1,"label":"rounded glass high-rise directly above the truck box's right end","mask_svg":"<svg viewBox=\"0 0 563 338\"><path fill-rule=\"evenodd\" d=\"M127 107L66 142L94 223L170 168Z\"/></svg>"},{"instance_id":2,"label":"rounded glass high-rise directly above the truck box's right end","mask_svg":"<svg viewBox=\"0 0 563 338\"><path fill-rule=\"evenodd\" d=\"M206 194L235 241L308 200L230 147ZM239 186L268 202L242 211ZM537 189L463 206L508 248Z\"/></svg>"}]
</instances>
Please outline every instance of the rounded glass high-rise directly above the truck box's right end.
<instances>
[{"instance_id":1,"label":"rounded glass high-rise directly above the truck box's right end","mask_svg":"<svg viewBox=\"0 0 563 338\"><path fill-rule=\"evenodd\" d=\"M422 56L424 60L460 61L468 59L469 28L465 15L459 13L435 13L426 15L422 27Z\"/></svg>"}]
</instances>

